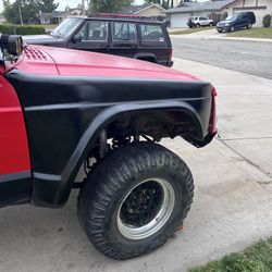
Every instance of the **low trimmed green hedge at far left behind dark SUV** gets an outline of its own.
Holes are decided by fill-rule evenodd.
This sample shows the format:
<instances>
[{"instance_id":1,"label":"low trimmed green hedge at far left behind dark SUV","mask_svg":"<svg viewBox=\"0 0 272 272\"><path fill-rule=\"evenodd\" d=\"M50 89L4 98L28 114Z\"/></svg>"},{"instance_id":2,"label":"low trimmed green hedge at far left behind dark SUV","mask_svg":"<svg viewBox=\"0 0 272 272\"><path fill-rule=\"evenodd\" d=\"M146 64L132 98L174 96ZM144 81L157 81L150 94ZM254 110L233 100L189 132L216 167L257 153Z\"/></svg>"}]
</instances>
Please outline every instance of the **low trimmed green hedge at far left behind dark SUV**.
<instances>
[{"instance_id":1,"label":"low trimmed green hedge at far left behind dark SUV","mask_svg":"<svg viewBox=\"0 0 272 272\"><path fill-rule=\"evenodd\" d=\"M12 25L12 24L0 24L0 33L4 35L36 35L45 34L46 29L40 25Z\"/></svg>"}]
</instances>

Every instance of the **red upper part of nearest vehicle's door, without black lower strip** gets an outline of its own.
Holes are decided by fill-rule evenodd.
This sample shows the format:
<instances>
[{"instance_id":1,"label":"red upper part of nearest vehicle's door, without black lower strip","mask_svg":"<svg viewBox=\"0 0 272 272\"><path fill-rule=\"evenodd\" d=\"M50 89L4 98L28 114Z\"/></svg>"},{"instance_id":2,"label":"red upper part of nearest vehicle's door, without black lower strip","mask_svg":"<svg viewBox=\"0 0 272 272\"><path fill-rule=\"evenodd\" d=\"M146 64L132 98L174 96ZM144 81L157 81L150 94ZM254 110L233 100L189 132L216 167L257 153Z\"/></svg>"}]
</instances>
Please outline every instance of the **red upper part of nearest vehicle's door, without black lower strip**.
<instances>
[{"instance_id":1,"label":"red upper part of nearest vehicle's door, without black lower strip","mask_svg":"<svg viewBox=\"0 0 272 272\"><path fill-rule=\"evenodd\" d=\"M15 90L0 75L0 175L29 170L30 159L22 108Z\"/></svg>"}]
</instances>

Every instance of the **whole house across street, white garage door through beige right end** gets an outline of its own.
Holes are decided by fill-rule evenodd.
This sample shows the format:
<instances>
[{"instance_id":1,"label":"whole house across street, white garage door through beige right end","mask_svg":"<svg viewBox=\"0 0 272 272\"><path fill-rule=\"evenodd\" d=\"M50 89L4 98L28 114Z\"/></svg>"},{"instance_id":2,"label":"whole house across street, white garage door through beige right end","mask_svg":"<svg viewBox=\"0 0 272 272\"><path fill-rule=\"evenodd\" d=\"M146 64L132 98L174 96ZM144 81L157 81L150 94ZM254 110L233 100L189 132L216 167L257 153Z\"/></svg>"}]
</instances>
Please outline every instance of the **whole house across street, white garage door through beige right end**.
<instances>
[{"instance_id":1,"label":"whole house across street, white garage door through beige right end","mask_svg":"<svg viewBox=\"0 0 272 272\"><path fill-rule=\"evenodd\" d=\"M186 27L188 17L206 16L215 23L233 13L252 11L257 27L262 26L265 14L272 14L272 0L218 0L206 2L184 2L165 11L171 27Z\"/></svg>"}]
</instances>

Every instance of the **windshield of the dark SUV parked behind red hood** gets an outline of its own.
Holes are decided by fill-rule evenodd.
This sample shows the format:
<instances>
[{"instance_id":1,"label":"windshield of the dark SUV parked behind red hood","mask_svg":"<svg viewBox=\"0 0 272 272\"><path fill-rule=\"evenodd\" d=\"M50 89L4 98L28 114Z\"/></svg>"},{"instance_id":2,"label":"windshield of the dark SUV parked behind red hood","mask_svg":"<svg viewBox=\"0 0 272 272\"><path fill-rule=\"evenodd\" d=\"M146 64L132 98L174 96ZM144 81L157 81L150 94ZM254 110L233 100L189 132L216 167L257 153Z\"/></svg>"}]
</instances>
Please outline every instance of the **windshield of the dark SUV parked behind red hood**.
<instances>
[{"instance_id":1,"label":"windshield of the dark SUV parked behind red hood","mask_svg":"<svg viewBox=\"0 0 272 272\"><path fill-rule=\"evenodd\" d=\"M76 29L82 21L83 18L79 17L65 18L57 28L52 30L51 35L58 38L66 38Z\"/></svg>"}]
</instances>

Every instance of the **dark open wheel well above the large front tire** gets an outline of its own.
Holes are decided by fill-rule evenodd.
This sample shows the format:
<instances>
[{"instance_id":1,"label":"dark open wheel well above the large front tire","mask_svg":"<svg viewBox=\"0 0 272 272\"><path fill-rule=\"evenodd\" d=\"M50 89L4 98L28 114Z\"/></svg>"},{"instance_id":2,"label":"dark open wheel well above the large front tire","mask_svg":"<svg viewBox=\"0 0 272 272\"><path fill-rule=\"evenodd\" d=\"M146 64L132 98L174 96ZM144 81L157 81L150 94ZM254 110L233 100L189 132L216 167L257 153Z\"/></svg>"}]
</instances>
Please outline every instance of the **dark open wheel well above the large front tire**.
<instances>
[{"instance_id":1,"label":"dark open wheel well above the large front tire","mask_svg":"<svg viewBox=\"0 0 272 272\"><path fill-rule=\"evenodd\" d=\"M96 144L83 158L85 172L88 173L92 163L111 149L138 141L140 137L159 143L162 138L182 136L190 141L191 138L201 138L200 129L200 123L185 111L124 113L97 132Z\"/></svg>"}]
</instances>

